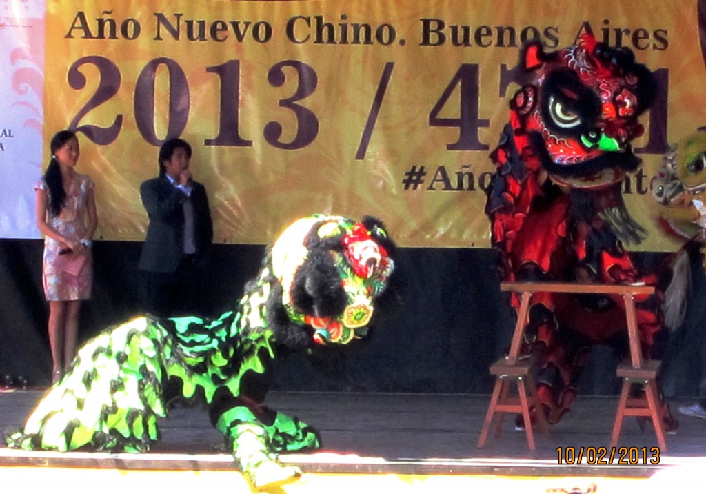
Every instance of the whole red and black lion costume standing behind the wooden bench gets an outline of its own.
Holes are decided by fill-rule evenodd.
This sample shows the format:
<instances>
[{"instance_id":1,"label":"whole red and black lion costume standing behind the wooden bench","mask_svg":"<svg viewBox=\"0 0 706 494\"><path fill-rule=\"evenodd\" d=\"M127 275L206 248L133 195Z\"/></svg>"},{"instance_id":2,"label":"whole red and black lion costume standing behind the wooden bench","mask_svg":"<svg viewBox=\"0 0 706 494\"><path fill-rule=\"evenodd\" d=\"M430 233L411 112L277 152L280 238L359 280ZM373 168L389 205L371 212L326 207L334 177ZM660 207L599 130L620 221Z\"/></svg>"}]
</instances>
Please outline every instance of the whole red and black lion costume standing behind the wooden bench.
<instances>
[{"instance_id":1,"label":"whole red and black lion costume standing behind the wooden bench","mask_svg":"<svg viewBox=\"0 0 706 494\"><path fill-rule=\"evenodd\" d=\"M486 204L501 276L654 284L656 277L640 274L623 249L645 231L621 194L626 173L640 165L630 142L644 132L638 116L653 100L652 73L630 50L590 36L552 53L530 42L518 69L522 87L491 153L497 170ZM646 354L662 328L660 298L636 300ZM517 310L516 295L512 304ZM524 353L536 359L539 401L556 423L575 397L590 347L626 342L624 308L619 295L537 294L529 319ZM666 405L663 417L665 429L674 430Z\"/></svg>"}]
</instances>

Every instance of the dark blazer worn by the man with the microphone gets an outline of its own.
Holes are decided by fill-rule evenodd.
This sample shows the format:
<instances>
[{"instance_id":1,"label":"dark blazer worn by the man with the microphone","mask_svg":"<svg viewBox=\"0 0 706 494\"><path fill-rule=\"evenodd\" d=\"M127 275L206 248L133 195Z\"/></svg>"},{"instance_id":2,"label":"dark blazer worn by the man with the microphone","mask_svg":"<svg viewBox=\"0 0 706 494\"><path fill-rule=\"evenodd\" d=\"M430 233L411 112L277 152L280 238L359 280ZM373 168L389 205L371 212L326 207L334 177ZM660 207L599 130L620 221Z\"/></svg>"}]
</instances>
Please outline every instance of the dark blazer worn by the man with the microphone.
<instances>
[{"instance_id":1,"label":"dark blazer worn by the man with the microphone","mask_svg":"<svg viewBox=\"0 0 706 494\"><path fill-rule=\"evenodd\" d=\"M202 184L191 185L196 254L203 255L213 241L213 223L208 196ZM140 185L140 199L150 224L138 267L143 271L174 273L184 255L184 207L186 194L164 177L146 180Z\"/></svg>"}]
</instances>

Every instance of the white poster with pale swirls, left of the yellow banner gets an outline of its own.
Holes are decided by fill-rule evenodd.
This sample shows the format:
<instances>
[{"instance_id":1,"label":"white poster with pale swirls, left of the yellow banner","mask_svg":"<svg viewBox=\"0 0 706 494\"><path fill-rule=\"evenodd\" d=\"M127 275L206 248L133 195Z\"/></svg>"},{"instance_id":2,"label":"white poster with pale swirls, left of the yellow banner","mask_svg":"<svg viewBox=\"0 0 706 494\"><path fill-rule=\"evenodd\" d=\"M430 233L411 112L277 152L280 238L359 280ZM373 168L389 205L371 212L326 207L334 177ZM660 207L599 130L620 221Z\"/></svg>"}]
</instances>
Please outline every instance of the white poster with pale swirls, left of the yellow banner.
<instances>
[{"instance_id":1,"label":"white poster with pale swirls, left of the yellow banner","mask_svg":"<svg viewBox=\"0 0 706 494\"><path fill-rule=\"evenodd\" d=\"M51 88L49 88L51 90ZM37 238L42 175L44 0L0 0L0 237Z\"/></svg>"}]
</instances>

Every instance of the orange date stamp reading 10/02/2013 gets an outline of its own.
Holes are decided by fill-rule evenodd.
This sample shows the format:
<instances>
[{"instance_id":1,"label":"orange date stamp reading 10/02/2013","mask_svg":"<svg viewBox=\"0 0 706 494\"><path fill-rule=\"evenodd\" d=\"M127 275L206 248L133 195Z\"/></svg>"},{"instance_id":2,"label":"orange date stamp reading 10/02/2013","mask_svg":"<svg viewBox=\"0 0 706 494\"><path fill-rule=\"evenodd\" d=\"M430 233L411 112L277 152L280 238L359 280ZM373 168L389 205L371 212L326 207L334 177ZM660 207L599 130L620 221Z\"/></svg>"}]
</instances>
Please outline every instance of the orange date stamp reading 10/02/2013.
<instances>
[{"instance_id":1,"label":"orange date stamp reading 10/02/2013","mask_svg":"<svg viewBox=\"0 0 706 494\"><path fill-rule=\"evenodd\" d=\"M560 465L658 465L659 447L558 447Z\"/></svg>"}]
</instances>

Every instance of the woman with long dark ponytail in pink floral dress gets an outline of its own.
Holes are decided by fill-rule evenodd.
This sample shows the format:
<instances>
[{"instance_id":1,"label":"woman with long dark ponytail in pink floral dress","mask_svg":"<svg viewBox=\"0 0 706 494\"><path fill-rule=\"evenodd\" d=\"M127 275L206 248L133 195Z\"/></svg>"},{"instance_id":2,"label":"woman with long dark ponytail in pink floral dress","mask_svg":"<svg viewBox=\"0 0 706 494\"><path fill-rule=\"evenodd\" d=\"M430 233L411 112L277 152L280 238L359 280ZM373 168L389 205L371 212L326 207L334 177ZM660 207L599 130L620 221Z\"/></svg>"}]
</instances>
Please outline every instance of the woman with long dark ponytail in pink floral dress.
<instances>
[{"instance_id":1,"label":"woman with long dark ponytail in pink floral dress","mask_svg":"<svg viewBox=\"0 0 706 494\"><path fill-rule=\"evenodd\" d=\"M49 301L49 346L56 382L76 351L81 300L90 298L91 239L98 219L93 181L76 172L76 134L59 131L50 143L52 159L37 193L37 228L44 235L42 283Z\"/></svg>"}]
</instances>

